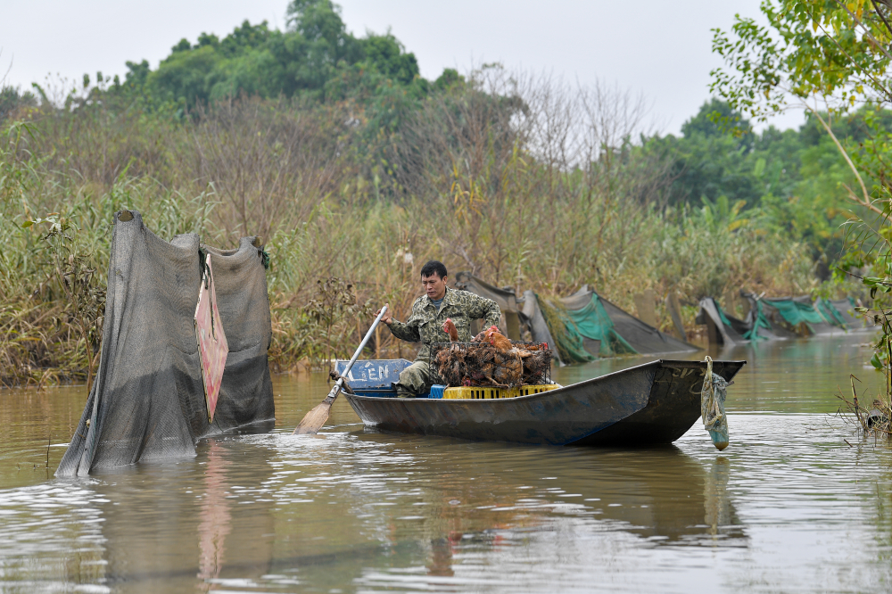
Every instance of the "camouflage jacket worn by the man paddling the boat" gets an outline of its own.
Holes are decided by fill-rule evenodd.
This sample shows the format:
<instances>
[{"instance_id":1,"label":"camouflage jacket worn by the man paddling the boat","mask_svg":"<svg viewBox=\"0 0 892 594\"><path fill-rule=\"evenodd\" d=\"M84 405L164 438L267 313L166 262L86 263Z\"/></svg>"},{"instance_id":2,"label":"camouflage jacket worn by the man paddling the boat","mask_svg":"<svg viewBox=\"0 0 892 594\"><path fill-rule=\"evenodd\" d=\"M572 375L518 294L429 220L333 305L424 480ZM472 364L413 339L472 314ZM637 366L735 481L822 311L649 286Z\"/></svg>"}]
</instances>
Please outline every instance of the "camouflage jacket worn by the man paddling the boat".
<instances>
[{"instance_id":1,"label":"camouflage jacket worn by the man paddling the boat","mask_svg":"<svg viewBox=\"0 0 892 594\"><path fill-rule=\"evenodd\" d=\"M395 319L390 324L391 332L397 338L409 342L423 342L416 360L430 358L428 345L432 342L449 342L449 334L443 332L443 323L451 318L458 330L459 342L471 342L471 320L483 319L484 326L499 325L501 310L495 301L474 293L446 288L446 295L436 310L427 295L422 295L412 303L412 314L406 322Z\"/></svg>"}]
</instances>

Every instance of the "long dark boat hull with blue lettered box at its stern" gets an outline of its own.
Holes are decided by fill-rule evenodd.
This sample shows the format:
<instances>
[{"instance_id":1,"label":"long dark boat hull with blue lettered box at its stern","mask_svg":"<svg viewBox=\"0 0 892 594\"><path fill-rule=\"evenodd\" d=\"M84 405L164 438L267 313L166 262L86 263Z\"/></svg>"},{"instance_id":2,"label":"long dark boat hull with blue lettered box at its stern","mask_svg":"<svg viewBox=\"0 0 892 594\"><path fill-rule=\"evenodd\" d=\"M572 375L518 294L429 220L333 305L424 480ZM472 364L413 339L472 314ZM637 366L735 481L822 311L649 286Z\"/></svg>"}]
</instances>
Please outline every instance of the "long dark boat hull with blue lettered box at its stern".
<instances>
[{"instance_id":1,"label":"long dark boat hull with blue lettered box at its stern","mask_svg":"<svg viewBox=\"0 0 892 594\"><path fill-rule=\"evenodd\" d=\"M344 393L369 427L474 441L615 446L671 443L700 417L704 361L660 359L557 390L500 400L390 398L404 359L358 361ZM746 361L714 361L731 381Z\"/></svg>"}]
</instances>

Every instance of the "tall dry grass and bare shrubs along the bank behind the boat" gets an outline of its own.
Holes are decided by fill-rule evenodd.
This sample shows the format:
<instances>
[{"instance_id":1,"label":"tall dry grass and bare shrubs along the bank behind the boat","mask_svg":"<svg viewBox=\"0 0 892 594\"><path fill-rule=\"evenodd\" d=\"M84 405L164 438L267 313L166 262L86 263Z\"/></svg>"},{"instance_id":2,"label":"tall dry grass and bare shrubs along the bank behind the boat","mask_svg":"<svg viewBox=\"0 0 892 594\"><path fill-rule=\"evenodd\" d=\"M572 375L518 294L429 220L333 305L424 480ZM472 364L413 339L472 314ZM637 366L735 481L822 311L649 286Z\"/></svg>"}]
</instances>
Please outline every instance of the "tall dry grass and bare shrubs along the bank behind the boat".
<instances>
[{"instance_id":1,"label":"tall dry grass and bare shrubs along the bank behind the boat","mask_svg":"<svg viewBox=\"0 0 892 594\"><path fill-rule=\"evenodd\" d=\"M543 295L591 284L629 309L646 288L693 304L740 287L816 285L789 238L665 208L669 155L632 142L642 118L633 98L478 74L426 99L397 131L372 128L352 103L244 99L186 120L101 103L20 112L26 123L0 146L0 378L87 375L45 225L22 227L54 212L97 285L121 208L140 210L165 239L192 232L225 247L263 235L270 354L282 370L323 356L326 339L303 307L320 278L346 279L359 301L388 301L405 318L429 259ZM335 354L366 324L340 320ZM386 331L377 348L412 354Z\"/></svg>"}]
</instances>

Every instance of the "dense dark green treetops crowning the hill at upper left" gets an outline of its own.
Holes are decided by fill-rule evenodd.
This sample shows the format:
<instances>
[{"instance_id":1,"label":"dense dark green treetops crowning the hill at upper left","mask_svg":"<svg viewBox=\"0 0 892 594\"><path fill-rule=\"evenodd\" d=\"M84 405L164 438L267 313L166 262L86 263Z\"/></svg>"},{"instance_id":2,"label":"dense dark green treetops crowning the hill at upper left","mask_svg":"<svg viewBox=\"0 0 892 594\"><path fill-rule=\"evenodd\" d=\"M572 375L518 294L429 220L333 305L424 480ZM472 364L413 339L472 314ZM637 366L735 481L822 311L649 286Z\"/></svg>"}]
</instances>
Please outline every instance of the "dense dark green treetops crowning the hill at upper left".
<instances>
[{"instance_id":1,"label":"dense dark green treetops crowning the hill at upper left","mask_svg":"<svg viewBox=\"0 0 892 594\"><path fill-rule=\"evenodd\" d=\"M413 95L427 87L414 54L389 33L354 37L330 0L295 0L287 23L287 30L278 31L266 21L244 21L222 39L210 33L194 45L181 39L157 70L145 61L127 62L123 89L194 110L239 95L340 100L362 89L359 96L368 100L392 86L417 87L409 91Z\"/></svg>"}]
</instances>

